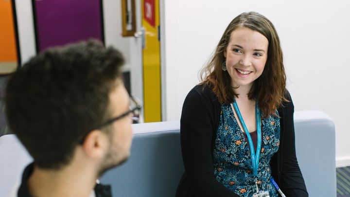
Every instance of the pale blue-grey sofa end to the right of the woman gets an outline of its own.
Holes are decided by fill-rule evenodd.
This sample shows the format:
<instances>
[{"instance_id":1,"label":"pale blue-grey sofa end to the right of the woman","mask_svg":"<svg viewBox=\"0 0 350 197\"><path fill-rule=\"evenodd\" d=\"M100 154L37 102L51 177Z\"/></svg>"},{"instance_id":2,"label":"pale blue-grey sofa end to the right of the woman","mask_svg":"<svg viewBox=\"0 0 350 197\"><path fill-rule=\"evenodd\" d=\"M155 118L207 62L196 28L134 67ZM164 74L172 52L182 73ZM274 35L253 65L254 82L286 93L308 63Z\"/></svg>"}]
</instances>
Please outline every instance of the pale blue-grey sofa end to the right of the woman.
<instances>
[{"instance_id":1,"label":"pale blue-grey sofa end to the right of the woman","mask_svg":"<svg viewBox=\"0 0 350 197\"><path fill-rule=\"evenodd\" d=\"M310 197L336 197L335 128L320 111L294 113L297 160Z\"/></svg>"}]
</instances>

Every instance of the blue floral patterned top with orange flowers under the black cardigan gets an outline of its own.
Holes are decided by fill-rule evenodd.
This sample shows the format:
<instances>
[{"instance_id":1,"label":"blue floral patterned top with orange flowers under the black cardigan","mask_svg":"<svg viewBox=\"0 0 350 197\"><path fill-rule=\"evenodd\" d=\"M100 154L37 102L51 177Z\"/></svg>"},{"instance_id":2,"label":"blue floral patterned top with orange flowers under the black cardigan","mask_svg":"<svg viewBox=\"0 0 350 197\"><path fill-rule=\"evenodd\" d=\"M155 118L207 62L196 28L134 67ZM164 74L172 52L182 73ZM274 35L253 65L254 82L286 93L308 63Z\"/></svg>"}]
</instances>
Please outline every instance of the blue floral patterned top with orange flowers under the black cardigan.
<instances>
[{"instance_id":1,"label":"blue floral patterned top with orange flowers under the black cardigan","mask_svg":"<svg viewBox=\"0 0 350 197\"><path fill-rule=\"evenodd\" d=\"M278 115L278 111L276 110ZM263 114L261 114L263 116ZM278 197L270 182L271 157L280 145L280 118L262 119L262 149L258 168L259 191L269 191L270 197ZM214 145L214 176L240 197L252 197L256 192L250 150L230 104L221 105L220 123Z\"/></svg>"}]
</instances>

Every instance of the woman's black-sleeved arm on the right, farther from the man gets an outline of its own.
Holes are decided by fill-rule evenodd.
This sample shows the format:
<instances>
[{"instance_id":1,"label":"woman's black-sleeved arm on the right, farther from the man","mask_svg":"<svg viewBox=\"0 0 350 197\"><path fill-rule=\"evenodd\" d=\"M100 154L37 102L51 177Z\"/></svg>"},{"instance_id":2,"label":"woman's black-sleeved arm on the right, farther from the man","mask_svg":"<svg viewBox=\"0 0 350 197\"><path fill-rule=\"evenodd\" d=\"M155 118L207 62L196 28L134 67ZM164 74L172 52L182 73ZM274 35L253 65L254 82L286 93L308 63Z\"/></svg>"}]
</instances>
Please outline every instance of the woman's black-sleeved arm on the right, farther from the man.
<instances>
[{"instance_id":1,"label":"woman's black-sleeved arm on the right, farther from the man","mask_svg":"<svg viewBox=\"0 0 350 197\"><path fill-rule=\"evenodd\" d=\"M305 182L302 177L299 165L297 163L295 149L294 132L294 105L290 94L287 92L286 102L283 109L283 144L282 145L282 169L280 188L287 197L308 197Z\"/></svg>"}]
</instances>

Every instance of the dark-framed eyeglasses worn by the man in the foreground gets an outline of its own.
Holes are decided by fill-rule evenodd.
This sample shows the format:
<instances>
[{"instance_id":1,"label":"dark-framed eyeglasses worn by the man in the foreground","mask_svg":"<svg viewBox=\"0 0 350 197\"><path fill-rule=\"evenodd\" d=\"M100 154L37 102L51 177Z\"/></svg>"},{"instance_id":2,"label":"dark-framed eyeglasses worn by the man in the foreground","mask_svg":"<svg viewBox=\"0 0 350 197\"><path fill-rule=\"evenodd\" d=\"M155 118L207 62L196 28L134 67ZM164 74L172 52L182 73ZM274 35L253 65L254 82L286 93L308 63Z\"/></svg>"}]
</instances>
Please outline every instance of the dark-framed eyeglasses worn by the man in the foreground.
<instances>
[{"instance_id":1,"label":"dark-framed eyeglasses worn by the man in the foreground","mask_svg":"<svg viewBox=\"0 0 350 197\"><path fill-rule=\"evenodd\" d=\"M142 104L141 104L140 100L135 98L135 97L130 97L130 104L129 104L129 109L130 110L122 113L121 115L119 115L117 117L113 117L111 119L106 120L104 123L93 127L90 131L92 131L94 129L103 128L106 125L110 125L113 122L115 122L117 120L120 120L120 119L124 118L125 116L130 115L131 113L132 113L131 119L133 120L133 123L139 123L141 108L142 108ZM79 143L83 143L84 142L84 140L85 140L86 136L88 135L88 133L84 135L84 137L82 138L82 140Z\"/></svg>"}]
</instances>

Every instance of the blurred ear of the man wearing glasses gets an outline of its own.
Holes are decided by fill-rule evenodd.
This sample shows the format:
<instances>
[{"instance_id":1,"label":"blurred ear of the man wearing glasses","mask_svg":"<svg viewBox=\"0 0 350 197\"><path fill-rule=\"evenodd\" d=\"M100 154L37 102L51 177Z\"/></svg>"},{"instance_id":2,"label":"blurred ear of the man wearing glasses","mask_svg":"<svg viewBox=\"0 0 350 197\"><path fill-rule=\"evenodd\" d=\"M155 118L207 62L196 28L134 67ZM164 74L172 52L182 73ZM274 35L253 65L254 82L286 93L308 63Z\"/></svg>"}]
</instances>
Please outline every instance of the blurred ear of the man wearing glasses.
<instances>
[{"instance_id":1,"label":"blurred ear of the man wearing glasses","mask_svg":"<svg viewBox=\"0 0 350 197\"><path fill-rule=\"evenodd\" d=\"M89 157L97 159L105 156L108 143L108 137L105 132L96 129L88 133L82 146Z\"/></svg>"}]
</instances>

